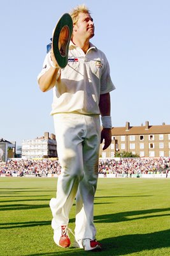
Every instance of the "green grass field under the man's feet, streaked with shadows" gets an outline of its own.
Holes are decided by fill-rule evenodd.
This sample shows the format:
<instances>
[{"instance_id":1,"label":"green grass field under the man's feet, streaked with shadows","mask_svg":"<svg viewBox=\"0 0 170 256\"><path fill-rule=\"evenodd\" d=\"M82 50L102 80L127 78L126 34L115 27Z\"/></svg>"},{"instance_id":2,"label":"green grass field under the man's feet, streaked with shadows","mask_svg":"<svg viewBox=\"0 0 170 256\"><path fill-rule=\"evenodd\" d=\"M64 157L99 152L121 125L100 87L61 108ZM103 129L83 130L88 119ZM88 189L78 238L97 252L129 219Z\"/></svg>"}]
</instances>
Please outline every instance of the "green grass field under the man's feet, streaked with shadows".
<instances>
[{"instance_id":1,"label":"green grass field under the man's feet, streaked with shadows","mask_svg":"<svg viewBox=\"0 0 170 256\"><path fill-rule=\"evenodd\" d=\"M170 255L170 179L99 179L94 221L102 252L55 245L48 204L56 184L54 178L0 178L1 256ZM73 205L72 230L74 213Z\"/></svg>"}]
</instances>

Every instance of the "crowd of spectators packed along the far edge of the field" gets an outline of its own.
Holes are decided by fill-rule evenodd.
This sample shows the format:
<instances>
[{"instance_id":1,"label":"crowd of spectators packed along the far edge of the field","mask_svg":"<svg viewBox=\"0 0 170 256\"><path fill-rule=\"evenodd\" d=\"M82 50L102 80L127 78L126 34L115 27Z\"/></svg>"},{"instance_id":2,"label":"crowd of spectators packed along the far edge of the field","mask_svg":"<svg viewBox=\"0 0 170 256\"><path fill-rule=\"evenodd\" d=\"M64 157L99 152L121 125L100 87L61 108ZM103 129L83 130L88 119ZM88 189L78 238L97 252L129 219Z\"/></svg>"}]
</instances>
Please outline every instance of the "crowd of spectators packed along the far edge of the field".
<instances>
[{"instance_id":1,"label":"crowd of spectators packed along the far edge of the field","mask_svg":"<svg viewBox=\"0 0 170 256\"><path fill-rule=\"evenodd\" d=\"M47 177L48 174L60 174L58 159L11 159L0 163L0 175ZM160 158L120 158L99 159L99 173L110 174L158 174L170 170L170 157Z\"/></svg>"}]
</instances>

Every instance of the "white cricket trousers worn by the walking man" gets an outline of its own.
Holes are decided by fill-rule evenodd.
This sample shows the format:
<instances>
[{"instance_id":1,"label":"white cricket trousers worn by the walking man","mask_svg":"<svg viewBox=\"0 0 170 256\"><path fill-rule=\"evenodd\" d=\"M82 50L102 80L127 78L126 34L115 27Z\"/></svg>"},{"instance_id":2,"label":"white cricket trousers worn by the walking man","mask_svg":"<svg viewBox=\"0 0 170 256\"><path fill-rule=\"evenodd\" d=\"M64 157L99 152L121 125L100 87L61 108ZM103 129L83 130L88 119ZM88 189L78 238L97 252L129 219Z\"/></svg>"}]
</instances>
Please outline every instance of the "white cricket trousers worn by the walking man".
<instances>
[{"instance_id":1,"label":"white cricket trousers worn by the walking man","mask_svg":"<svg viewBox=\"0 0 170 256\"><path fill-rule=\"evenodd\" d=\"M57 198L50 201L52 228L69 223L69 212L76 198L75 238L94 239L94 194L101 137L99 116L62 113L55 114L53 120L62 169L57 181Z\"/></svg>"}]
</instances>

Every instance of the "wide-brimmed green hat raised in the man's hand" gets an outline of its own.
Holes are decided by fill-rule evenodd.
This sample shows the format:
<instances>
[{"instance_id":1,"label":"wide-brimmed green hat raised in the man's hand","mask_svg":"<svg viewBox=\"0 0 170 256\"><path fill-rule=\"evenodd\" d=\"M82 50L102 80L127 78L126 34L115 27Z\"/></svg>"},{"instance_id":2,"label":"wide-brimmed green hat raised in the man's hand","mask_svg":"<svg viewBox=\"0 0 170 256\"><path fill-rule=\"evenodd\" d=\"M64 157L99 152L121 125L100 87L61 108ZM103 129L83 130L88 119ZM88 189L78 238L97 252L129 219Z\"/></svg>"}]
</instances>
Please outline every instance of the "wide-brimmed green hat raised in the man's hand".
<instances>
[{"instance_id":1,"label":"wide-brimmed green hat raised in the man's hand","mask_svg":"<svg viewBox=\"0 0 170 256\"><path fill-rule=\"evenodd\" d=\"M69 13L60 17L53 31L53 54L60 68L64 68L68 61L69 42L73 33L73 20Z\"/></svg>"}]
</instances>

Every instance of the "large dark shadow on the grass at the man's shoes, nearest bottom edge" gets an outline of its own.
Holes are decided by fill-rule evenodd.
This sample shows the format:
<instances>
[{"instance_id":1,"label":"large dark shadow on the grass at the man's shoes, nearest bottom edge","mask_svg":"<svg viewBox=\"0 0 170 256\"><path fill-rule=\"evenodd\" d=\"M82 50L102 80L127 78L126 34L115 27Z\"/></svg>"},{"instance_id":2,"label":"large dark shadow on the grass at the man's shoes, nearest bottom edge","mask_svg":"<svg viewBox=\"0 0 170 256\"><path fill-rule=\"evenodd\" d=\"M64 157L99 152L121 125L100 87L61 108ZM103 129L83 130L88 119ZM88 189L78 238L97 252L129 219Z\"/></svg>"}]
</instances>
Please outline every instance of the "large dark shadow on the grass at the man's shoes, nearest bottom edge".
<instances>
[{"instance_id":1,"label":"large dark shadow on the grass at the man's shoes, nearest bottom edge","mask_svg":"<svg viewBox=\"0 0 170 256\"><path fill-rule=\"evenodd\" d=\"M170 230L163 230L159 232L153 232L148 234L133 234L125 235L119 237L110 237L103 239L101 244L103 245L102 252L95 252L95 255L103 256L118 256L118 255L127 255L130 253L139 253L145 250L150 251L150 255L155 255L155 249L165 248L165 253L168 253L168 247L170 246L169 242ZM60 249L57 252L57 247L55 252L51 253L33 253L26 254L24 256L56 256L56 255L92 255L90 252L85 252L82 249ZM145 252L143 252L145 255ZM164 254L166 255L166 254ZM169 255L169 254L167 254Z\"/></svg>"}]
</instances>

